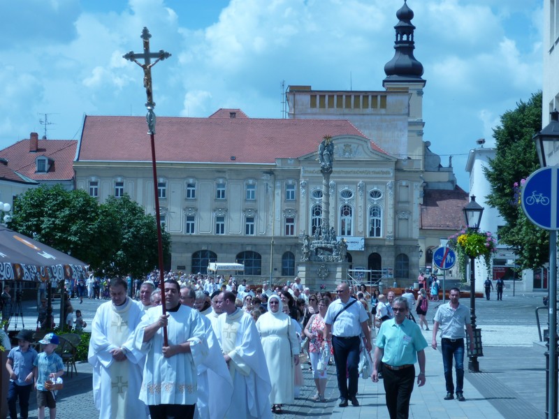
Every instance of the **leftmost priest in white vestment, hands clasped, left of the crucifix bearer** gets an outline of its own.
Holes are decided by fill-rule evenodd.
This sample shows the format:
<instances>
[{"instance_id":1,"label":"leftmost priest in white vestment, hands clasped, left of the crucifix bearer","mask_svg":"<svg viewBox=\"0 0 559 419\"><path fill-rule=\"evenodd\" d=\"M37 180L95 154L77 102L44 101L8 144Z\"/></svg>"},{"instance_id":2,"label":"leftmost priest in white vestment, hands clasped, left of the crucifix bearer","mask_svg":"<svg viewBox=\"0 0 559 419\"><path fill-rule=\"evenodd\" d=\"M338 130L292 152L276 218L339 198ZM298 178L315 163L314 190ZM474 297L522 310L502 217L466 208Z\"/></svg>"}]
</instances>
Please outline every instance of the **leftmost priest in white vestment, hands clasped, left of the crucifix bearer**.
<instances>
[{"instance_id":1,"label":"leftmost priest in white vestment, hands clasped, left of the crucifix bearer","mask_svg":"<svg viewBox=\"0 0 559 419\"><path fill-rule=\"evenodd\" d=\"M93 365L93 398L102 419L147 418L138 401L144 355L134 347L142 311L126 297L126 281L110 281L110 301L99 306L92 322L87 360Z\"/></svg>"}]
</instances>

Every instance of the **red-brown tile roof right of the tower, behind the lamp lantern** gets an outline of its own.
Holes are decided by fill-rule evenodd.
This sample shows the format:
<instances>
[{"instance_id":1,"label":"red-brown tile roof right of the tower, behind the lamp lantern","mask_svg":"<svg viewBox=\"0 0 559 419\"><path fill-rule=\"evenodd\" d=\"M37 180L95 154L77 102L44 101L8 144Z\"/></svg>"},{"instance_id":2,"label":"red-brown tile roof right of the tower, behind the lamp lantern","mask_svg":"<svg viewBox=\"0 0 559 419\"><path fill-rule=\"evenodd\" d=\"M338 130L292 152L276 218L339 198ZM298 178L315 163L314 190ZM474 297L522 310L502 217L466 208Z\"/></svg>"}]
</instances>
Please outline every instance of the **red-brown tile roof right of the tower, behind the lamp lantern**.
<instances>
[{"instance_id":1,"label":"red-brown tile roof right of the tower, behind the lamp lantern","mask_svg":"<svg viewBox=\"0 0 559 419\"><path fill-rule=\"evenodd\" d=\"M460 230L464 225L463 207L469 202L467 193L456 186L452 191L426 189L421 205L421 226L424 230Z\"/></svg>"}]
</instances>

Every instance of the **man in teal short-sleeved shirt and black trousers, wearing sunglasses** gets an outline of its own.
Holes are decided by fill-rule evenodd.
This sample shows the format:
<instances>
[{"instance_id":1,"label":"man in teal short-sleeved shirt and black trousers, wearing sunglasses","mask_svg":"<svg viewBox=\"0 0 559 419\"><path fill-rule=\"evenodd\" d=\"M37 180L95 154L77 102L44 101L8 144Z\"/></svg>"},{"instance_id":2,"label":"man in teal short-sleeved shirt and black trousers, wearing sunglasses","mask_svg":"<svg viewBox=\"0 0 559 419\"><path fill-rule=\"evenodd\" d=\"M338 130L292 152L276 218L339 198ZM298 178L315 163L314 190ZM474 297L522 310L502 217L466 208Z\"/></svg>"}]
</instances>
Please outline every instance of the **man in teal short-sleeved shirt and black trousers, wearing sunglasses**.
<instances>
[{"instance_id":1,"label":"man in teal short-sleeved shirt and black trousers, wearing sunglasses","mask_svg":"<svg viewBox=\"0 0 559 419\"><path fill-rule=\"evenodd\" d=\"M416 323L407 316L409 307L403 297L392 303L394 318L384 321L377 336L375 361L371 374L374 383L379 381L382 367L386 407L391 419L409 416L409 399L415 380L414 364L419 361L417 384L425 384L425 348L427 341ZM382 365L381 365L382 362Z\"/></svg>"}]
</instances>

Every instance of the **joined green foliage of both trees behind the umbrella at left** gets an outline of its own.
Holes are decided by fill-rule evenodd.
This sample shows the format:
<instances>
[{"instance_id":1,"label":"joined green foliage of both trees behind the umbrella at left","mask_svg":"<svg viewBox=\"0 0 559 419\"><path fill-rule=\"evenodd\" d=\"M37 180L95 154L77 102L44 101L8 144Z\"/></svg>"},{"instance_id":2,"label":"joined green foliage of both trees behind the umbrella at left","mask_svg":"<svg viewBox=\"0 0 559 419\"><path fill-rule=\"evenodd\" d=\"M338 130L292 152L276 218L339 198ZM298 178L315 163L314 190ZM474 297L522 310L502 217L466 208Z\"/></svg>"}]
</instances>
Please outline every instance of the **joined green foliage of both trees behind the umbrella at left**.
<instances>
[{"instance_id":1,"label":"joined green foliage of both trees behind the umbrella at left","mask_svg":"<svg viewBox=\"0 0 559 419\"><path fill-rule=\"evenodd\" d=\"M129 196L99 205L86 191L41 186L17 197L10 228L89 263L96 274L142 277L157 267L157 223ZM164 256L170 235L163 232Z\"/></svg>"}]
</instances>

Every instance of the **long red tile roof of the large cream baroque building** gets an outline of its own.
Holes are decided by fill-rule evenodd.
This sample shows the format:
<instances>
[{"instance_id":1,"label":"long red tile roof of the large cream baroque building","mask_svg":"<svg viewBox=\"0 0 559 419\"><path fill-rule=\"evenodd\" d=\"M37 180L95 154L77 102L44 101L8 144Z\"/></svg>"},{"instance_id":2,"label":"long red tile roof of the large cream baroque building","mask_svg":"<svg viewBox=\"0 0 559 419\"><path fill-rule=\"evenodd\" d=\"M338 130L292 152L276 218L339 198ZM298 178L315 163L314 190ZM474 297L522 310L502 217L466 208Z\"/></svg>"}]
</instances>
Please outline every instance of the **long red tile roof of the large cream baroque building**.
<instances>
[{"instance_id":1,"label":"long red tile roof of the large cream baroque building","mask_svg":"<svg viewBox=\"0 0 559 419\"><path fill-rule=\"evenodd\" d=\"M219 117L224 115L227 117ZM359 135L340 119L253 119L228 117L219 110L210 118L157 117L157 161L274 163L317 151L324 135ZM242 111L238 111L242 115ZM239 115L239 114L237 114ZM79 161L151 161L144 117L87 116ZM371 142L372 149L386 154Z\"/></svg>"}]
</instances>

